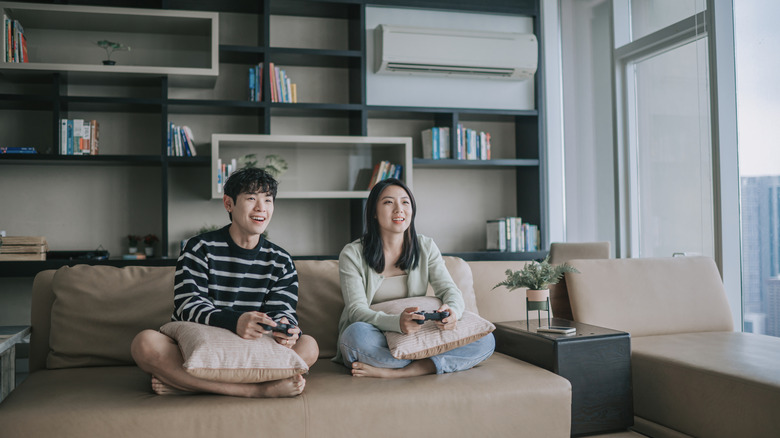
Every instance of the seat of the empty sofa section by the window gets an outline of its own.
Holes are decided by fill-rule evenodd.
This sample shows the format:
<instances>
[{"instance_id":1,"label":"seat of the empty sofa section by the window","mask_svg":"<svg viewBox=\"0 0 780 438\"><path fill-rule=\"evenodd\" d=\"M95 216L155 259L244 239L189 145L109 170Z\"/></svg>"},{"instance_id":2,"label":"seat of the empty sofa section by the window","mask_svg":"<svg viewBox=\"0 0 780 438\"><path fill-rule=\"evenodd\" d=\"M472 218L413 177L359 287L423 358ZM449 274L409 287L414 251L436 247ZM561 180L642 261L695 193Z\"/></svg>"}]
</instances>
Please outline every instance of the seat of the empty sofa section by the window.
<instances>
[{"instance_id":1,"label":"seat of the empty sofa section by the window","mask_svg":"<svg viewBox=\"0 0 780 438\"><path fill-rule=\"evenodd\" d=\"M681 333L635 337L631 349L638 417L691 436L780 430L780 338Z\"/></svg>"}]
</instances>

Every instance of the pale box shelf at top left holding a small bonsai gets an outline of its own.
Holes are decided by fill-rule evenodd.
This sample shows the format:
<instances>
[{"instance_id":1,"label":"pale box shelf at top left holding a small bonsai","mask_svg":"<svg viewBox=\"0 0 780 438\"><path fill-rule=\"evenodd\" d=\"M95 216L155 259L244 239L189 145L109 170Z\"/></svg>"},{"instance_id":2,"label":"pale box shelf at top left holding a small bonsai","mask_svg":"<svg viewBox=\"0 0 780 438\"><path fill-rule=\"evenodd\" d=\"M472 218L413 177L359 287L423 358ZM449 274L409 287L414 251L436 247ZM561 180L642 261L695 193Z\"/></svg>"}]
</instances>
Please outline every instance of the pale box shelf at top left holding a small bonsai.
<instances>
[{"instance_id":1,"label":"pale box shelf at top left holding a small bonsai","mask_svg":"<svg viewBox=\"0 0 780 438\"><path fill-rule=\"evenodd\" d=\"M26 63L0 60L4 70L163 74L193 86L219 75L216 13L15 2L0 10L24 23L29 53ZM111 59L97 40L131 50Z\"/></svg>"}]
</instances>

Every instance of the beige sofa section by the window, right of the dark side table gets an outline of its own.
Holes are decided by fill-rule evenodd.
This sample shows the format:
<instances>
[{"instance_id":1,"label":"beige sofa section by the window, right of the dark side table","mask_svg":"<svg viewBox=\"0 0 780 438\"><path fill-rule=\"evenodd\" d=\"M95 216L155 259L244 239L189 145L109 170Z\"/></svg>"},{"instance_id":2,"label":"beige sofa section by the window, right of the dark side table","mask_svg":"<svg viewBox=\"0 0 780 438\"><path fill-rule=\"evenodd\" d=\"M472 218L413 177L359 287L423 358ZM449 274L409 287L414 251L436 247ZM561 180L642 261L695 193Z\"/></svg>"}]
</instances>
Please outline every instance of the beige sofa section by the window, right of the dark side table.
<instances>
[{"instance_id":1,"label":"beige sofa section by the window, right of the dark side table","mask_svg":"<svg viewBox=\"0 0 780 438\"><path fill-rule=\"evenodd\" d=\"M733 331L712 259L569 263L574 319L631 334L636 431L780 436L780 338Z\"/></svg>"}]
</instances>

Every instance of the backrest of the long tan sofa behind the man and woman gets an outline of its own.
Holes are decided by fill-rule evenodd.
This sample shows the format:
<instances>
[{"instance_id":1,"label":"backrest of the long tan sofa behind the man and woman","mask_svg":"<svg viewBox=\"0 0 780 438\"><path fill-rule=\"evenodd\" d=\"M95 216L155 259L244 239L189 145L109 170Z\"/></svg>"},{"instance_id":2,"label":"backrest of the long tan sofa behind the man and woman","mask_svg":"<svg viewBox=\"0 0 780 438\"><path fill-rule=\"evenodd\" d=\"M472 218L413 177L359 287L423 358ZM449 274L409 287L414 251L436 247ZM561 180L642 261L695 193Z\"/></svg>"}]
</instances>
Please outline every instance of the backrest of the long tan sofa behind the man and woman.
<instances>
[{"instance_id":1,"label":"backrest of the long tan sofa behind the man and woman","mask_svg":"<svg viewBox=\"0 0 780 438\"><path fill-rule=\"evenodd\" d=\"M456 257L444 260L466 309L479 313L469 264ZM297 260L295 265L301 330L317 339L320 357L333 357L344 307L338 261ZM497 268L499 279L491 279L491 287L505 269ZM173 267L77 265L40 272L33 283L30 371L134 364L133 337L170 321L173 277ZM493 302L501 292L492 293L497 296L486 301L488 313L500 308Z\"/></svg>"}]
</instances>

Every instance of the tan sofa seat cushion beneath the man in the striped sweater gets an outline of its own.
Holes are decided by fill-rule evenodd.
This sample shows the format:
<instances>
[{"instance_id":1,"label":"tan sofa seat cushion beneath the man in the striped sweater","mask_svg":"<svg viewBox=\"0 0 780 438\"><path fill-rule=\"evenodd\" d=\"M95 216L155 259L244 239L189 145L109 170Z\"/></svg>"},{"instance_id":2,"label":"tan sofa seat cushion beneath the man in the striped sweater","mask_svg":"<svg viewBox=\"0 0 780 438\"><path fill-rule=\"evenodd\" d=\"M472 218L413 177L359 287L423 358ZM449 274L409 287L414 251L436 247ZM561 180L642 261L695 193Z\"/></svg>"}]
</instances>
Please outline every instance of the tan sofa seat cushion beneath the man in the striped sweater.
<instances>
[{"instance_id":1,"label":"tan sofa seat cushion beneath the man in the striped sweater","mask_svg":"<svg viewBox=\"0 0 780 438\"><path fill-rule=\"evenodd\" d=\"M152 392L135 366L43 370L0 404L0 435L30 437L303 437L305 401Z\"/></svg>"}]
</instances>

